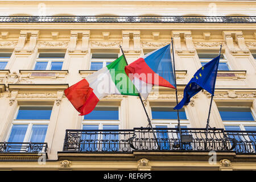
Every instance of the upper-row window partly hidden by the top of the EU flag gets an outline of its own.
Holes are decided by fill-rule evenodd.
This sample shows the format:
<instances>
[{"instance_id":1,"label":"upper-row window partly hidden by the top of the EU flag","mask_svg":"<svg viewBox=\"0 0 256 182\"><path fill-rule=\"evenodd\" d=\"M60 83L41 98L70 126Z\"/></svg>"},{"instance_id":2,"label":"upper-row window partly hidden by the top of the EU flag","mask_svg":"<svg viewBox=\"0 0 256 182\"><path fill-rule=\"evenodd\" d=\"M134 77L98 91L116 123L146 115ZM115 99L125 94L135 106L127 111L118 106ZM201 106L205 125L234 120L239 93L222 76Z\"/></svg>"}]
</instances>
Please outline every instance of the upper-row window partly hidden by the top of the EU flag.
<instances>
[{"instance_id":1,"label":"upper-row window partly hidden by the top of the EU flag","mask_svg":"<svg viewBox=\"0 0 256 182\"><path fill-rule=\"evenodd\" d=\"M204 66L210 60L214 59L218 56L216 53L198 53L199 59L201 61L201 65ZM228 61L226 60L225 56L221 54L220 56L220 63L218 64L218 71L229 71L230 67L228 65Z\"/></svg>"}]
</instances>

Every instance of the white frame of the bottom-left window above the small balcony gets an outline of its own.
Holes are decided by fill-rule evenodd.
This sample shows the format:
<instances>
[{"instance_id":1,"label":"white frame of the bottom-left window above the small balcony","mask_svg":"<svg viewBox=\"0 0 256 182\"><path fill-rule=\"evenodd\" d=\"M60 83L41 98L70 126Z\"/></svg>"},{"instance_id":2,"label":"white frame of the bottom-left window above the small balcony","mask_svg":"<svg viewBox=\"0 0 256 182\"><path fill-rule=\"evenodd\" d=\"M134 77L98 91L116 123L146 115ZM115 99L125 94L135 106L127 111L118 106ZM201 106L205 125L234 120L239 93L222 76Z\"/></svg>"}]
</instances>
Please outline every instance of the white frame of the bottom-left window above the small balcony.
<instances>
[{"instance_id":1,"label":"white frame of the bottom-left window above the small balcony","mask_svg":"<svg viewBox=\"0 0 256 182\"><path fill-rule=\"evenodd\" d=\"M20 106L36 107L38 105L19 105L18 108L15 111L14 118L17 117ZM43 106L49 106L50 107L50 105L40 105L40 106L42 106L42 107ZM48 125L48 127L49 127L50 120L51 120L51 118L50 119L13 119L13 122L11 123L11 126L9 127L9 130L7 132L5 141L9 140L11 130L13 129L14 125L28 125L27 126L27 131L26 131L26 134L24 135L24 139L23 139L22 143L30 142L31 135L32 135L32 126L33 125ZM47 131L48 131L48 127L47 127ZM47 136L47 133L46 133L46 136ZM45 142L45 140L46 139L44 139L44 142Z\"/></svg>"}]
</instances>

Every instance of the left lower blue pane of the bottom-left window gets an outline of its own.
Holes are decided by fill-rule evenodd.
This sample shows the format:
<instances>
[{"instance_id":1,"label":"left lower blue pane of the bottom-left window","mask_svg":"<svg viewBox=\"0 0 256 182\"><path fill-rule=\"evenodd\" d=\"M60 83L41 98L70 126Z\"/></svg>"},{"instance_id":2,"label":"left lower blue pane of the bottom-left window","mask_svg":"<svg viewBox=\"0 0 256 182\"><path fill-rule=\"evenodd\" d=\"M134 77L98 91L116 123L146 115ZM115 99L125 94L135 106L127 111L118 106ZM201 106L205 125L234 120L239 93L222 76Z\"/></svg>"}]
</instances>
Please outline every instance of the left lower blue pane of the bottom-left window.
<instances>
[{"instance_id":1,"label":"left lower blue pane of the bottom-left window","mask_svg":"<svg viewBox=\"0 0 256 182\"><path fill-rule=\"evenodd\" d=\"M8 142L23 142L28 125L13 125Z\"/></svg>"}]
</instances>

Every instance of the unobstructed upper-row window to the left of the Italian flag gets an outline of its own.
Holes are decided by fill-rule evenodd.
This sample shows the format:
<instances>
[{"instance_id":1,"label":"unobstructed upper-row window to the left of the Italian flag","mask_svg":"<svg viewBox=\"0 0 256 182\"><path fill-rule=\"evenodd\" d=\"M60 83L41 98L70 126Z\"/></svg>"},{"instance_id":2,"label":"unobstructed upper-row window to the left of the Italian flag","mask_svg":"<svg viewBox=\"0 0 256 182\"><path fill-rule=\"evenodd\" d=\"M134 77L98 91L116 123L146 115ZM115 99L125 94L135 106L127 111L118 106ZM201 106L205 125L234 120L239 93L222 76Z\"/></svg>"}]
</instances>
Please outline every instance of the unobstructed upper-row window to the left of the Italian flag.
<instances>
[{"instance_id":1,"label":"unobstructed upper-row window to the left of the Italian flag","mask_svg":"<svg viewBox=\"0 0 256 182\"><path fill-rule=\"evenodd\" d=\"M61 70L65 53L39 53L35 70Z\"/></svg>"}]
</instances>

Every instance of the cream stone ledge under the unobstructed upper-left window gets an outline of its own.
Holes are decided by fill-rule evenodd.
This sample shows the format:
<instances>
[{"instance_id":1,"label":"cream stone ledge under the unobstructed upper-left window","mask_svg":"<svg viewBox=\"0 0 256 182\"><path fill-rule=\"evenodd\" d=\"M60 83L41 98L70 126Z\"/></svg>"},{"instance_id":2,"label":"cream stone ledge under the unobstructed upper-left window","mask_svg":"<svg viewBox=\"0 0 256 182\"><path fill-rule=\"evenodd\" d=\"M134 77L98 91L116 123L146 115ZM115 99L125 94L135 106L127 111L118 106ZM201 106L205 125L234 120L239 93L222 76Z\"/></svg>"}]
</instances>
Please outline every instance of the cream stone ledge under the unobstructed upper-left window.
<instances>
[{"instance_id":1,"label":"cream stone ledge under the unobstructed upper-left window","mask_svg":"<svg viewBox=\"0 0 256 182\"><path fill-rule=\"evenodd\" d=\"M26 78L65 78L68 70L19 70L21 77Z\"/></svg>"}]
</instances>

